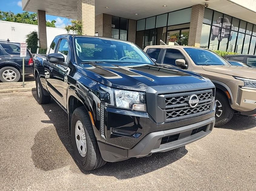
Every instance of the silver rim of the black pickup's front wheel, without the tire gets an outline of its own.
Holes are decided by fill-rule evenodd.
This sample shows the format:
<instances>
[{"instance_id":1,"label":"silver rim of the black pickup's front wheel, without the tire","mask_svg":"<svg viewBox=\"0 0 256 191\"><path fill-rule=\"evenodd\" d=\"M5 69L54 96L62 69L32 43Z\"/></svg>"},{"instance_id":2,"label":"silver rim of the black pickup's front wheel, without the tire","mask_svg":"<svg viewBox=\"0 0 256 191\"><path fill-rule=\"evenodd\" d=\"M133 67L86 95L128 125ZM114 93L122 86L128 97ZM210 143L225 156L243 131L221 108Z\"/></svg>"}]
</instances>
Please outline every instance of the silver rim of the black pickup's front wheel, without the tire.
<instances>
[{"instance_id":1,"label":"silver rim of the black pickup's front wheel, without the tire","mask_svg":"<svg viewBox=\"0 0 256 191\"><path fill-rule=\"evenodd\" d=\"M84 126L81 121L77 121L75 124L75 142L78 152L82 157L86 155L86 136Z\"/></svg>"}]
</instances>

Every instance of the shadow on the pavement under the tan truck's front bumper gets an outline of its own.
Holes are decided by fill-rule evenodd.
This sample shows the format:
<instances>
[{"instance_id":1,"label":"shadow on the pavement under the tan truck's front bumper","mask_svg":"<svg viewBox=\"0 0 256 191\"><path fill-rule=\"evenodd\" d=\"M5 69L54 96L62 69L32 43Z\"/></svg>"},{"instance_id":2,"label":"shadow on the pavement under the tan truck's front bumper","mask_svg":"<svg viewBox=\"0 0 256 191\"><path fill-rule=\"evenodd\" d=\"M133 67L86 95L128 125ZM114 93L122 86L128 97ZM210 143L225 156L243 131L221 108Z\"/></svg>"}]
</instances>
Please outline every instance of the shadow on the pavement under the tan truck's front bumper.
<instances>
[{"instance_id":1,"label":"shadow on the pavement under the tan truck's front bumper","mask_svg":"<svg viewBox=\"0 0 256 191\"><path fill-rule=\"evenodd\" d=\"M254 127L256 127L256 117L239 115L233 116L233 118L228 123L217 128L242 131Z\"/></svg>"}]
</instances>

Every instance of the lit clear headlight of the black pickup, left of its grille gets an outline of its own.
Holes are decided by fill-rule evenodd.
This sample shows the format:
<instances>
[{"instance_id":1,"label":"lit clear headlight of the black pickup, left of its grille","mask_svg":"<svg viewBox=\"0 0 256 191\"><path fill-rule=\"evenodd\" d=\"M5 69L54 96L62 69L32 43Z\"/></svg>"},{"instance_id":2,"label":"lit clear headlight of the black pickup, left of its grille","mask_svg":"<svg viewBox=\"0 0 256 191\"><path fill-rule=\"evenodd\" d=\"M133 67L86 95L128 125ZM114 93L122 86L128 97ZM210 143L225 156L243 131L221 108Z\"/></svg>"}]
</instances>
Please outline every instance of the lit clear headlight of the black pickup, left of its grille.
<instances>
[{"instance_id":1,"label":"lit clear headlight of the black pickup, left of its grille","mask_svg":"<svg viewBox=\"0 0 256 191\"><path fill-rule=\"evenodd\" d=\"M109 94L109 105L136 111L146 111L145 93L119 90L100 84L102 90Z\"/></svg>"}]
</instances>

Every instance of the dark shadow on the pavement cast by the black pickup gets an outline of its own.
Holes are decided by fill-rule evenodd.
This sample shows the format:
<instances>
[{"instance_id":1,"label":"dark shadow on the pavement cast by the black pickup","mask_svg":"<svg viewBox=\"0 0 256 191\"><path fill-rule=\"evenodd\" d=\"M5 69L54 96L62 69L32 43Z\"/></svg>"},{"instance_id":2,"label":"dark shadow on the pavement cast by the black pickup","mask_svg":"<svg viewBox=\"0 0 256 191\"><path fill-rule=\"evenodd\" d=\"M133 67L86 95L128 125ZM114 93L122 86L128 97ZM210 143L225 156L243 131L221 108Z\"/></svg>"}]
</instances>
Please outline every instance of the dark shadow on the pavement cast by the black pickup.
<instances>
[{"instance_id":1,"label":"dark shadow on the pavement cast by the black pickup","mask_svg":"<svg viewBox=\"0 0 256 191\"><path fill-rule=\"evenodd\" d=\"M32 91L32 94L36 100L36 91ZM150 157L131 158L127 161L107 163L105 166L91 171L85 171L79 167L78 170L75 166L76 163L74 163L71 136L68 131L68 115L53 100L49 104L41 106L50 119L41 122L47 123L49 126L42 128L36 134L35 143L31 150L35 167L44 171L71 165L70 169L74 173L81 171L84 174L128 179L165 167L188 153L184 146L165 153L156 153Z\"/></svg>"}]
</instances>

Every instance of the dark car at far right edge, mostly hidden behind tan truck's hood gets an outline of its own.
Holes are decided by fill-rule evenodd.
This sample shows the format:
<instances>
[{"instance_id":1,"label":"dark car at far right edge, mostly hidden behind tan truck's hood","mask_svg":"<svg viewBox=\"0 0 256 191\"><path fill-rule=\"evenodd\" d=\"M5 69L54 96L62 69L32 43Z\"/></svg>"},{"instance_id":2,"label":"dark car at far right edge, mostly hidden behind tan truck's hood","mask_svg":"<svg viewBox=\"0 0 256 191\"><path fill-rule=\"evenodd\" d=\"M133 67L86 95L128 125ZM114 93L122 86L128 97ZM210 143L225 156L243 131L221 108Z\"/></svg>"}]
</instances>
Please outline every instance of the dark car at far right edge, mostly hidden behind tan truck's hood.
<instances>
[{"instance_id":1,"label":"dark car at far right edge, mostly hidden behind tan truck's hood","mask_svg":"<svg viewBox=\"0 0 256 191\"><path fill-rule=\"evenodd\" d=\"M256 56L255 55L234 54L234 55L223 56L223 58L228 59L228 60L236 60L239 62L243 62L253 68L256 68Z\"/></svg>"}]
</instances>

